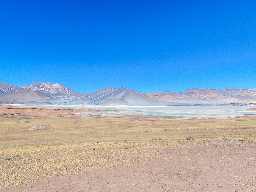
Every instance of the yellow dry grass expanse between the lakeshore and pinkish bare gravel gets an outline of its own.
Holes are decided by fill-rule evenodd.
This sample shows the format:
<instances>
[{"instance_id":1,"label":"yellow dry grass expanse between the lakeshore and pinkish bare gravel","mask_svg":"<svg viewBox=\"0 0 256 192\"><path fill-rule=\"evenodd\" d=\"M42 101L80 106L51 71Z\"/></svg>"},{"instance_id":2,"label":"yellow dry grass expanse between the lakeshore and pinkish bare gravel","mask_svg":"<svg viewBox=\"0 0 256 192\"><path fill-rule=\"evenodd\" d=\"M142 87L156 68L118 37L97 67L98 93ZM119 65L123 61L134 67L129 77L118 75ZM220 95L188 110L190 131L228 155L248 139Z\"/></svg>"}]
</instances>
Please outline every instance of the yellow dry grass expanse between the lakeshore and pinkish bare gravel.
<instances>
[{"instance_id":1,"label":"yellow dry grass expanse between the lakeshore and pinkish bare gravel","mask_svg":"<svg viewBox=\"0 0 256 192\"><path fill-rule=\"evenodd\" d=\"M150 148L220 141L225 137L256 141L255 118L151 122L151 125L141 124L141 121L124 116L92 119L1 117L0 189L55 175L130 164L143 158L161 158L157 153L149 154ZM50 128L28 130L38 125ZM193 140L186 140L186 137L193 137ZM138 154L136 158L129 156L134 153ZM4 161L8 157L12 159Z\"/></svg>"}]
</instances>

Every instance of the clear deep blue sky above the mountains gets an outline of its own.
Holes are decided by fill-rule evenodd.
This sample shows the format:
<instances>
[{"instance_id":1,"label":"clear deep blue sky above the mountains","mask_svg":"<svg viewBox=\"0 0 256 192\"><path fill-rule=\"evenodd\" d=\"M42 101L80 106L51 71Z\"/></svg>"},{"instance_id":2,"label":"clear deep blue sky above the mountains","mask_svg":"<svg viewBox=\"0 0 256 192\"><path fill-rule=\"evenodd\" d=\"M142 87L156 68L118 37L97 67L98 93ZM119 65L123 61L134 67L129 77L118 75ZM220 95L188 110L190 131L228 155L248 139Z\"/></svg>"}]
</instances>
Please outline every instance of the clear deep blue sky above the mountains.
<instances>
[{"instance_id":1,"label":"clear deep blue sky above the mountains","mask_svg":"<svg viewBox=\"0 0 256 192\"><path fill-rule=\"evenodd\" d=\"M1 2L0 81L78 92L256 88L256 1Z\"/></svg>"}]
</instances>

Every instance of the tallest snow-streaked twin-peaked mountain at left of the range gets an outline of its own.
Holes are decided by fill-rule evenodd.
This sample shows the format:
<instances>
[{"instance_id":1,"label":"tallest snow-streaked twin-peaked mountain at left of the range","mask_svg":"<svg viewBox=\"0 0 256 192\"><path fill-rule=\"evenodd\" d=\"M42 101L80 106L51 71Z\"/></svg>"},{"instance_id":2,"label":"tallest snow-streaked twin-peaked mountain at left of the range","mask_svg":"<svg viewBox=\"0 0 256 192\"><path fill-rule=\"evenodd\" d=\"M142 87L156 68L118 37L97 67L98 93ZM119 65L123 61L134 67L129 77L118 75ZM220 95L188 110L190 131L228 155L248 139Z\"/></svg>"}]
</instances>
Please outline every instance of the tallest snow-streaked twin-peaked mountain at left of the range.
<instances>
[{"instance_id":1,"label":"tallest snow-streaked twin-peaked mountain at left of the range","mask_svg":"<svg viewBox=\"0 0 256 192\"><path fill-rule=\"evenodd\" d=\"M52 83L41 83L36 81L34 83L23 86L25 90L37 90L43 91L46 93L64 93L64 94L77 94L78 92L69 89L61 84L52 84Z\"/></svg>"}]
</instances>

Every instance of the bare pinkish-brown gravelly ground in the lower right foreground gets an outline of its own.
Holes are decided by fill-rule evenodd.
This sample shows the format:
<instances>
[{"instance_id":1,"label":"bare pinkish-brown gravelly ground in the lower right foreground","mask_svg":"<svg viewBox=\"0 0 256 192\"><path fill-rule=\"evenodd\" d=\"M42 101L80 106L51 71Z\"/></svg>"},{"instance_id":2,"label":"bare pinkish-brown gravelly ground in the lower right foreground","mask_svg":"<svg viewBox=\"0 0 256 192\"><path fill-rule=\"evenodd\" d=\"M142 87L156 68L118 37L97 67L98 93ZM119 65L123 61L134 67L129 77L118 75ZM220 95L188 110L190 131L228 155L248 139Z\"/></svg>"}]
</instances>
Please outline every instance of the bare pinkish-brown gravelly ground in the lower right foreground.
<instances>
[{"instance_id":1,"label":"bare pinkish-brown gravelly ground in the lower right foreground","mask_svg":"<svg viewBox=\"0 0 256 192\"><path fill-rule=\"evenodd\" d=\"M204 142L151 152L140 162L46 177L4 191L28 191L30 186L29 191L56 192L256 191L255 143Z\"/></svg>"}]
</instances>

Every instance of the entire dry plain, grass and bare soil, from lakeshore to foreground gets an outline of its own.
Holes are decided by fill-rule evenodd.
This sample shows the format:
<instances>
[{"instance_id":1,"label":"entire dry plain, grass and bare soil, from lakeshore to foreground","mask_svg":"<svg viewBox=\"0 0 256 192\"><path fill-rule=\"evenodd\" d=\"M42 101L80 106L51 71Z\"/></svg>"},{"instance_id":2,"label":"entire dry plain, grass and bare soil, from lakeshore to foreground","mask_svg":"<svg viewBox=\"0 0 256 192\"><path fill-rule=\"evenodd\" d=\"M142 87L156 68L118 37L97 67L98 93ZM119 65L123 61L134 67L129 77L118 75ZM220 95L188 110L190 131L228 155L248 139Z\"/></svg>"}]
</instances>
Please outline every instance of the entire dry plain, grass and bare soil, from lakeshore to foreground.
<instances>
[{"instance_id":1,"label":"entire dry plain, grass and bare soil, from lakeshore to foreground","mask_svg":"<svg viewBox=\"0 0 256 192\"><path fill-rule=\"evenodd\" d=\"M0 106L0 191L256 191L255 116L101 112Z\"/></svg>"}]
</instances>

